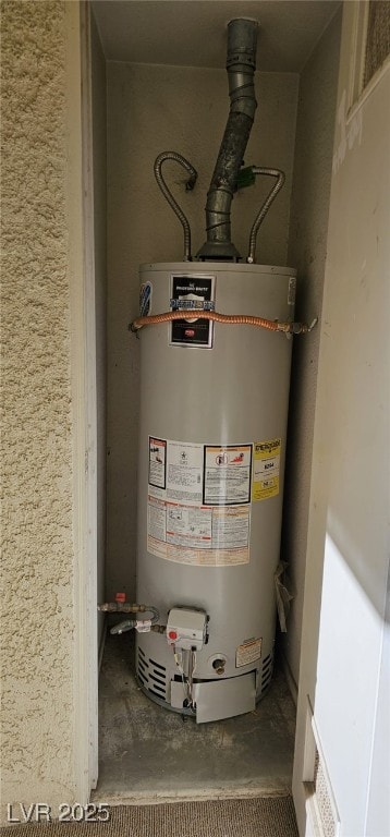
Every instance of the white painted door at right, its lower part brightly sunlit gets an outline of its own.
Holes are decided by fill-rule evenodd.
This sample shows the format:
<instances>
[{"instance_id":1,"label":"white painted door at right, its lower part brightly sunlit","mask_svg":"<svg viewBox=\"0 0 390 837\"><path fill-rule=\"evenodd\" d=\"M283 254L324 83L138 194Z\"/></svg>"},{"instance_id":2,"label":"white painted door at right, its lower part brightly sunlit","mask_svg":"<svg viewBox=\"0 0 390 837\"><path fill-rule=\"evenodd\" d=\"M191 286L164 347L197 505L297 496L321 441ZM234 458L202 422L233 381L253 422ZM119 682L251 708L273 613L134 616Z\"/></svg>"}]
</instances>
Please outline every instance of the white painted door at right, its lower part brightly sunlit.
<instances>
[{"instance_id":1,"label":"white painted door at right, its lower part brightly sunlit","mask_svg":"<svg viewBox=\"0 0 390 837\"><path fill-rule=\"evenodd\" d=\"M340 835L388 837L390 68L345 122L357 8L344 3L294 797L304 835L309 695Z\"/></svg>"}]
</instances>

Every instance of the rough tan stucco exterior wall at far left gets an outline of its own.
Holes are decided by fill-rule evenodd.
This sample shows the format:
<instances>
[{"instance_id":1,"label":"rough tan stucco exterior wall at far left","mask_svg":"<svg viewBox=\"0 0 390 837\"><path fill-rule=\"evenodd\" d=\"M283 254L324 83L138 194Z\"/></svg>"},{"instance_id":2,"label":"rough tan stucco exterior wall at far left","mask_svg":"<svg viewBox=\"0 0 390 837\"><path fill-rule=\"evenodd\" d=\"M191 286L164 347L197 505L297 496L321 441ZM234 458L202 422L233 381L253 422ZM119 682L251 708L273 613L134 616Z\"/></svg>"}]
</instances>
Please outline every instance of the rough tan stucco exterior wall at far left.
<instances>
[{"instance_id":1,"label":"rough tan stucco exterior wall at far left","mask_svg":"<svg viewBox=\"0 0 390 837\"><path fill-rule=\"evenodd\" d=\"M75 793L69 14L2 3L2 805Z\"/></svg>"}]
</instances>

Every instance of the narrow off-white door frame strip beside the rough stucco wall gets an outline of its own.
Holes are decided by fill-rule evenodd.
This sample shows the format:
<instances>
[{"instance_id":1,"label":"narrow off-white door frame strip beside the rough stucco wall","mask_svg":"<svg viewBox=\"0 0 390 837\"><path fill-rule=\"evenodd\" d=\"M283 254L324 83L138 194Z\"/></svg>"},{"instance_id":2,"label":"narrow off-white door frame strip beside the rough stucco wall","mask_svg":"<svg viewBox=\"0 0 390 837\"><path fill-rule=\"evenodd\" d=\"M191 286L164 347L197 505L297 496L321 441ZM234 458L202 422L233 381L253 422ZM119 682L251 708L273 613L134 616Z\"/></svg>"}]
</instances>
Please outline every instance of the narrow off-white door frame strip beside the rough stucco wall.
<instances>
[{"instance_id":1,"label":"narrow off-white door frame strip beside the rough stucco wall","mask_svg":"<svg viewBox=\"0 0 390 837\"><path fill-rule=\"evenodd\" d=\"M80 34L81 97L81 255L73 308L77 377L76 502L78 501L75 570L77 640L75 648L74 757L78 801L86 803L98 778L98 634L97 634L97 388L94 242L93 118L90 10L88 2L66 3L73 38ZM73 57L74 60L74 57ZM80 134L78 134L80 137ZM80 138L78 138L80 142Z\"/></svg>"}]
</instances>

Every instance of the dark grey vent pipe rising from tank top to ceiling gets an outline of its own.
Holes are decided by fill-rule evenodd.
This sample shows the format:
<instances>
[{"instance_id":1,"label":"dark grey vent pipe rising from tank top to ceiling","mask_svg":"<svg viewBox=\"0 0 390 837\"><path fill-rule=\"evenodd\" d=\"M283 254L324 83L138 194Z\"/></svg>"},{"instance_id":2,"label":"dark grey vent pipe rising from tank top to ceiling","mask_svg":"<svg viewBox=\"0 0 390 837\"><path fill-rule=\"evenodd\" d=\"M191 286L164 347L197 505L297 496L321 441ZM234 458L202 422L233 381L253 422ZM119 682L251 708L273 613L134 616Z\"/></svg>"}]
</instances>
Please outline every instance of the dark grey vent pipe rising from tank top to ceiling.
<instances>
[{"instance_id":1,"label":"dark grey vent pipe rising from tank top to ceiling","mask_svg":"<svg viewBox=\"0 0 390 837\"><path fill-rule=\"evenodd\" d=\"M254 87L258 23L245 17L228 24L227 70L230 111L206 204L207 241L200 259L240 258L231 242L230 207L257 107Z\"/></svg>"}]
</instances>

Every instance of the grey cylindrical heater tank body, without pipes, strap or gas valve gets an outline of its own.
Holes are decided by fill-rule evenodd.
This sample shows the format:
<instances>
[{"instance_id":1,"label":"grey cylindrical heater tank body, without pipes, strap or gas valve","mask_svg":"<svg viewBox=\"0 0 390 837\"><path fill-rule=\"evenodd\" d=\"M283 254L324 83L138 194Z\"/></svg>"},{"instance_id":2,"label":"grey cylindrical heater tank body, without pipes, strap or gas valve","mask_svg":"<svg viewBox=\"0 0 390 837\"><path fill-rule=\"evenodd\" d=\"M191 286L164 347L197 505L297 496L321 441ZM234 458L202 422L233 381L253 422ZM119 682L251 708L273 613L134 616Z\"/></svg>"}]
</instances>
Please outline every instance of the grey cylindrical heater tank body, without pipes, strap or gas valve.
<instances>
[{"instance_id":1,"label":"grey cylindrical heater tank body, without pipes, strap or gas valve","mask_svg":"<svg viewBox=\"0 0 390 837\"><path fill-rule=\"evenodd\" d=\"M149 314L293 319L290 268L150 264L141 281ZM202 721L251 709L271 678L292 340L194 314L141 333L137 601L163 624L171 608L207 614L193 672ZM183 711L164 635L137 635L136 666L153 699Z\"/></svg>"}]
</instances>

